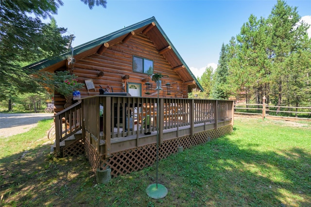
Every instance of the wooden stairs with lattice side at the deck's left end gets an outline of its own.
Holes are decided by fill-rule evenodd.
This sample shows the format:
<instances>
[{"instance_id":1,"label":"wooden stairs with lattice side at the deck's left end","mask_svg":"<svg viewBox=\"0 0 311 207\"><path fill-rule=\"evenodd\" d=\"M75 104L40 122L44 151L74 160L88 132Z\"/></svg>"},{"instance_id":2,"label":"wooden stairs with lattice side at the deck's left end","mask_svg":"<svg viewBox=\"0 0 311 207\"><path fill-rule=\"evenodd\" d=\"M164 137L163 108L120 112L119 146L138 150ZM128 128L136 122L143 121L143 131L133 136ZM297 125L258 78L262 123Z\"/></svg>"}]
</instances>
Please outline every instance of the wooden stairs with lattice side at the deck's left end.
<instances>
[{"instance_id":1,"label":"wooden stairs with lattice side at the deck's left end","mask_svg":"<svg viewBox=\"0 0 311 207\"><path fill-rule=\"evenodd\" d=\"M61 157L67 157L72 155L79 155L84 153L84 139L82 137L82 130L77 131L65 140L60 142ZM56 149L56 143L51 146L50 154L54 154Z\"/></svg>"}]
</instances>

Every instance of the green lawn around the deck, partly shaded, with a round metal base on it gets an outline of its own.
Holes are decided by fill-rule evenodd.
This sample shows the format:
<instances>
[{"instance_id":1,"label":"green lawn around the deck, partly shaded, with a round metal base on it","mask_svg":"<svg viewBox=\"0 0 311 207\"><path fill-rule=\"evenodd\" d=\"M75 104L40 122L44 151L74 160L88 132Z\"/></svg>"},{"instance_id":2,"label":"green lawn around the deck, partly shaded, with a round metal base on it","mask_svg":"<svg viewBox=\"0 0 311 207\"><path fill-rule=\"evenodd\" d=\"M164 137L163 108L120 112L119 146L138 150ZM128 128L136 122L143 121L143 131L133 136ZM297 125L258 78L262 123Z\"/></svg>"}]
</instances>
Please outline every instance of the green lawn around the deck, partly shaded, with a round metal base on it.
<instances>
[{"instance_id":1,"label":"green lawn around the deck, partly shaded, with a round metal base on it","mask_svg":"<svg viewBox=\"0 0 311 207\"><path fill-rule=\"evenodd\" d=\"M146 194L155 166L96 184L84 156L56 159L40 139L32 136L18 150L11 143L1 153L1 206L311 206L307 122L237 118L231 134L159 161L158 181L168 194L158 200Z\"/></svg>"}]
</instances>

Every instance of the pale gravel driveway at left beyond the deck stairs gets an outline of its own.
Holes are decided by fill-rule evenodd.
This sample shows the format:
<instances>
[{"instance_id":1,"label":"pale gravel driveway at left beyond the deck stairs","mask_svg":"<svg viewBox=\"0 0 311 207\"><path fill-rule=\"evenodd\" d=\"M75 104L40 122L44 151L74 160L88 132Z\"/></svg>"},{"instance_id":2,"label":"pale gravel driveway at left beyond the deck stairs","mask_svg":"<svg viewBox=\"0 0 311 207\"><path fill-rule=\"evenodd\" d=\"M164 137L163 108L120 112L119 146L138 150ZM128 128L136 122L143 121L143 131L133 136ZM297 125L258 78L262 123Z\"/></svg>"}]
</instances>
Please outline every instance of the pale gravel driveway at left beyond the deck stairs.
<instances>
[{"instance_id":1,"label":"pale gravel driveway at left beyond the deck stairs","mask_svg":"<svg viewBox=\"0 0 311 207\"><path fill-rule=\"evenodd\" d=\"M0 138L24 133L39 120L51 119L53 113L0 113Z\"/></svg>"}]
</instances>

